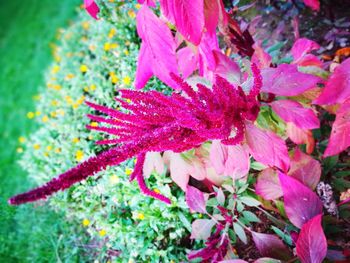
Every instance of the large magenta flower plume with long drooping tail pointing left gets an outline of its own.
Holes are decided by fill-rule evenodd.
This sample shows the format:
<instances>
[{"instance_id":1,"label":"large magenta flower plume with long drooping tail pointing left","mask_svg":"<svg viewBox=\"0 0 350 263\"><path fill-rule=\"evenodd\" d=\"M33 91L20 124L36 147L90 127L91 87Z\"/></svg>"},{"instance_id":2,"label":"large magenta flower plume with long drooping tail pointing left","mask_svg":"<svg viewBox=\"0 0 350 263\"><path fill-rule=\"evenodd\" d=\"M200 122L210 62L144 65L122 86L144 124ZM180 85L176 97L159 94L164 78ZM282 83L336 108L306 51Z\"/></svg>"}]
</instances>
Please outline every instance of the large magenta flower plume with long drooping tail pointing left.
<instances>
[{"instance_id":1,"label":"large magenta flower plume with long drooping tail pointing left","mask_svg":"<svg viewBox=\"0 0 350 263\"><path fill-rule=\"evenodd\" d=\"M254 121L259 112L256 96L262 79L255 64L252 64L252 72L254 84L248 95L241 87L235 87L221 77L216 77L212 88L197 84L194 89L173 74L172 78L186 95L122 90L121 98L116 98L122 111L87 102L91 108L108 116L88 115L107 126L87 128L113 136L97 142L114 145L113 148L91 157L41 187L12 197L9 203L19 205L45 199L107 166L118 165L132 157L137 157L137 163L130 179L137 180L144 194L170 203L165 196L147 188L142 173L145 154L166 150L183 152L208 140L221 140L229 145L241 142L244 121Z\"/></svg>"}]
</instances>

